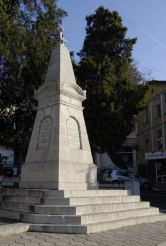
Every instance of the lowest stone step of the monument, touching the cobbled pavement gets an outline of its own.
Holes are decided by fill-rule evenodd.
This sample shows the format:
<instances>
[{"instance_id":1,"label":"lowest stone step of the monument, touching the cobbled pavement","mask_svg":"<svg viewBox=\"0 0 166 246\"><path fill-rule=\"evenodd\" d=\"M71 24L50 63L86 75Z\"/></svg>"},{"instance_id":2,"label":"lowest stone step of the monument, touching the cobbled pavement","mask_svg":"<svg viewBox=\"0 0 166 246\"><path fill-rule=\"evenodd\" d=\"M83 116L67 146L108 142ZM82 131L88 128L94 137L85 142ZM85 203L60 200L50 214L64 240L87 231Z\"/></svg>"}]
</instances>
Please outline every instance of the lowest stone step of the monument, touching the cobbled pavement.
<instances>
[{"instance_id":1,"label":"lowest stone step of the monument, touching the cobbled pavement","mask_svg":"<svg viewBox=\"0 0 166 246\"><path fill-rule=\"evenodd\" d=\"M89 225L56 225L56 224L43 224L43 225L30 225L29 231L31 232L49 232L49 233L69 233L69 234L89 234L100 231L107 231L117 229L125 226L133 226L143 223L154 223L165 221L166 215L148 215L140 217L131 217L123 220L107 221L93 223Z\"/></svg>"}]
</instances>

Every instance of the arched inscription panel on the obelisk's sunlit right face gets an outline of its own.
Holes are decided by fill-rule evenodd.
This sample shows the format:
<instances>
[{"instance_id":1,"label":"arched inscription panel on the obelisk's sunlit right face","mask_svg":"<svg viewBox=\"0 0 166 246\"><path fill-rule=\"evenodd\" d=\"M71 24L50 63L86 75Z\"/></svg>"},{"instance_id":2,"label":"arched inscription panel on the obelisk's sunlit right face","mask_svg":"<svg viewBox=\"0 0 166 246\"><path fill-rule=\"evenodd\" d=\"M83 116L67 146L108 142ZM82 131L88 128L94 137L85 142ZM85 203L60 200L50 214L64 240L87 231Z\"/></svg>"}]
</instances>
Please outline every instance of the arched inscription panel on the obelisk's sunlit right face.
<instances>
[{"instance_id":1,"label":"arched inscription panel on the obelisk's sunlit right face","mask_svg":"<svg viewBox=\"0 0 166 246\"><path fill-rule=\"evenodd\" d=\"M80 149L80 134L79 134L79 127L78 123L75 119L70 117L67 121L67 130L68 130L68 142L69 147Z\"/></svg>"}]
</instances>

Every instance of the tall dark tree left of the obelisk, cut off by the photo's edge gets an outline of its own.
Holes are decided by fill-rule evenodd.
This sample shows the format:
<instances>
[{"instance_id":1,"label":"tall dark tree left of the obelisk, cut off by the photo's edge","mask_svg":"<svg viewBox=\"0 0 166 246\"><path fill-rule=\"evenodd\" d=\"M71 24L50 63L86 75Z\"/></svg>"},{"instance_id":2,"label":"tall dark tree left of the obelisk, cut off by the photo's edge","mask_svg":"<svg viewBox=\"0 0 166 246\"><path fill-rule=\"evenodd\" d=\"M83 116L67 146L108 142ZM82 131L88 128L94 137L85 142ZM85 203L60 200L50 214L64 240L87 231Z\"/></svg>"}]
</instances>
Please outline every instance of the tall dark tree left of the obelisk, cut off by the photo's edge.
<instances>
[{"instance_id":1,"label":"tall dark tree left of the obelisk, cut off by the photo's edge","mask_svg":"<svg viewBox=\"0 0 166 246\"><path fill-rule=\"evenodd\" d=\"M57 0L0 0L0 141L25 153L62 17Z\"/></svg>"}]
</instances>

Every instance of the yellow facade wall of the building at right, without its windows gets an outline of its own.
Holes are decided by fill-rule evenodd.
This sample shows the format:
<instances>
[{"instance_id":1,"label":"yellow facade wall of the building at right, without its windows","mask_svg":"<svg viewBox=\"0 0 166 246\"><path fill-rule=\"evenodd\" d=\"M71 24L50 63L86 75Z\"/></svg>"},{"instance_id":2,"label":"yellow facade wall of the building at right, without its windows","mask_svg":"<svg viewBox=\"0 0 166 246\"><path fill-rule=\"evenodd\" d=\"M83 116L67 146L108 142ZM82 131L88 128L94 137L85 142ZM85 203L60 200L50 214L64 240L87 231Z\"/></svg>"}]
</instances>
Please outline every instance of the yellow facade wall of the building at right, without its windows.
<instances>
[{"instance_id":1,"label":"yellow facade wall of the building at right, without its windows","mask_svg":"<svg viewBox=\"0 0 166 246\"><path fill-rule=\"evenodd\" d=\"M144 122L144 110L137 116L137 143L138 155L137 164L149 166L149 161L145 160L145 152L165 152L166 150L166 81L151 81L149 82L149 89L145 95L145 104L148 108L149 121ZM160 101L161 116L156 115L156 100ZM162 132L162 148L157 146L157 130ZM145 150L145 137L149 136L149 146Z\"/></svg>"}]
</instances>

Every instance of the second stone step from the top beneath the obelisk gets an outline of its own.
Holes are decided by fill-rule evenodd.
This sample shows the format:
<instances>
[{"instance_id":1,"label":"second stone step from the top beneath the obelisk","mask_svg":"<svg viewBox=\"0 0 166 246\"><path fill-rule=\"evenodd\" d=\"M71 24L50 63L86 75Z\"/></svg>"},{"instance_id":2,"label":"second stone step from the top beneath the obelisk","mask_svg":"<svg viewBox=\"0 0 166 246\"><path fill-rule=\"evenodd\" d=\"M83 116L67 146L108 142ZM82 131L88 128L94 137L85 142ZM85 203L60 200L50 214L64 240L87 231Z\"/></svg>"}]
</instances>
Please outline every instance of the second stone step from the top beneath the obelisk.
<instances>
[{"instance_id":1,"label":"second stone step from the top beneath the obelisk","mask_svg":"<svg viewBox=\"0 0 166 246\"><path fill-rule=\"evenodd\" d=\"M139 196L96 196L96 197L71 197L69 198L42 198L45 205L85 205L85 204L103 204L103 203L121 203L121 202L139 202Z\"/></svg>"}]
</instances>

